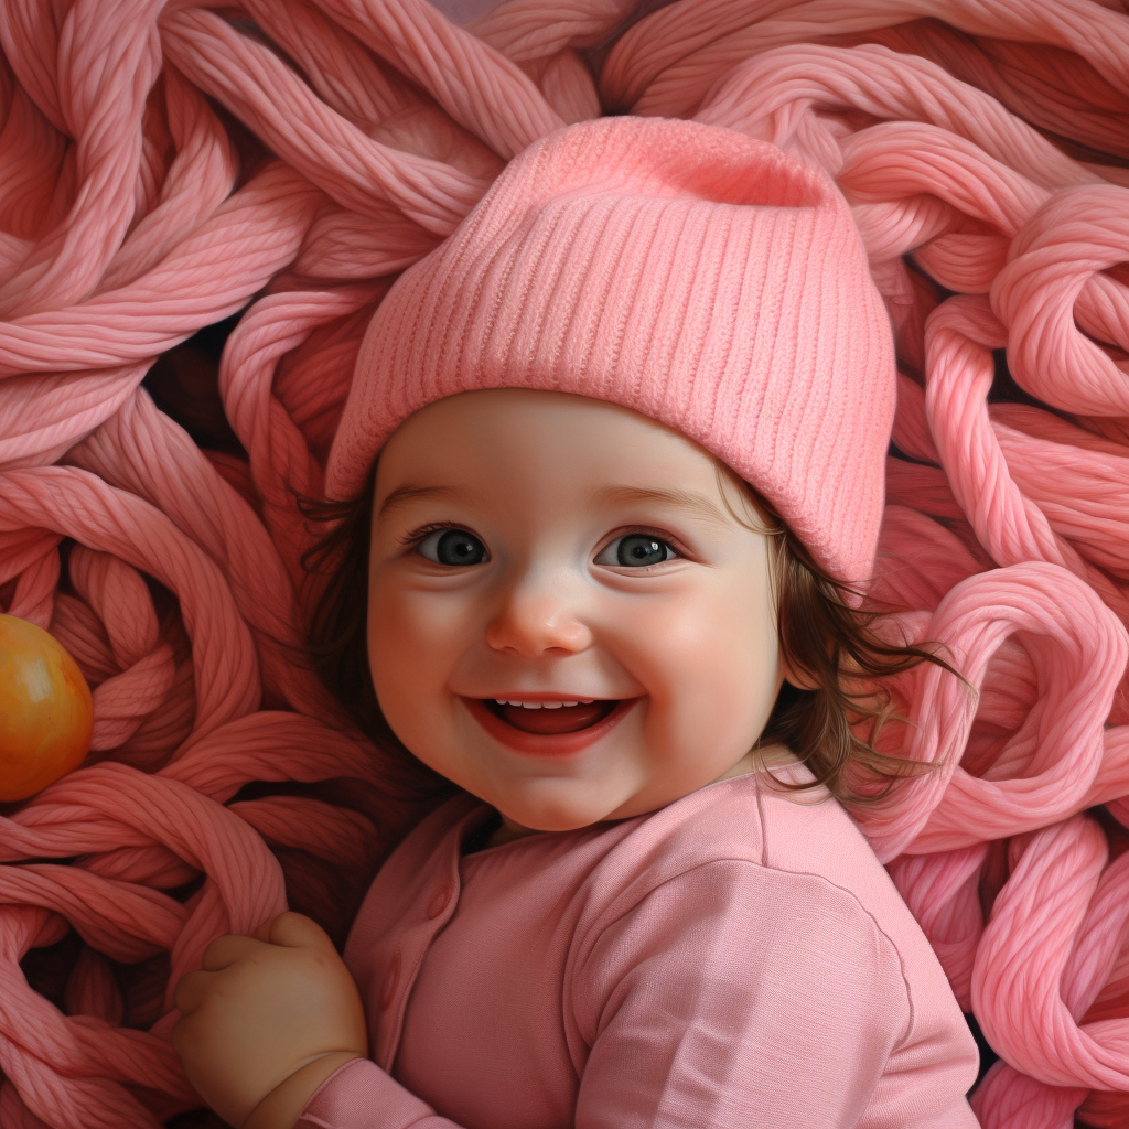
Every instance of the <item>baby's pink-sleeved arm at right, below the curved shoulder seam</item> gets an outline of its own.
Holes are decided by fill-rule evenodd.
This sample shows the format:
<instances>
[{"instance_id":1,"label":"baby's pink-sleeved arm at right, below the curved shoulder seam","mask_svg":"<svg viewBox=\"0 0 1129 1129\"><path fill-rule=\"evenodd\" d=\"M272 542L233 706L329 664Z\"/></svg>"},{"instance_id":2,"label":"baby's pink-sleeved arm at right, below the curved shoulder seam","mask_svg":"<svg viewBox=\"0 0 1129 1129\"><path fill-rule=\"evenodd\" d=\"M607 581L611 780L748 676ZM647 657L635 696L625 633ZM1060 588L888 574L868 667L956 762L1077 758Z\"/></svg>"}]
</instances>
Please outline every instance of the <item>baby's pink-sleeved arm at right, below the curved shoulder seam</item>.
<instances>
[{"instance_id":1,"label":"baby's pink-sleeved arm at right, below the curved shoulder seam","mask_svg":"<svg viewBox=\"0 0 1129 1129\"><path fill-rule=\"evenodd\" d=\"M708 863L609 907L577 956L576 1129L977 1126L955 1000L916 1031L896 949L817 875Z\"/></svg>"}]
</instances>

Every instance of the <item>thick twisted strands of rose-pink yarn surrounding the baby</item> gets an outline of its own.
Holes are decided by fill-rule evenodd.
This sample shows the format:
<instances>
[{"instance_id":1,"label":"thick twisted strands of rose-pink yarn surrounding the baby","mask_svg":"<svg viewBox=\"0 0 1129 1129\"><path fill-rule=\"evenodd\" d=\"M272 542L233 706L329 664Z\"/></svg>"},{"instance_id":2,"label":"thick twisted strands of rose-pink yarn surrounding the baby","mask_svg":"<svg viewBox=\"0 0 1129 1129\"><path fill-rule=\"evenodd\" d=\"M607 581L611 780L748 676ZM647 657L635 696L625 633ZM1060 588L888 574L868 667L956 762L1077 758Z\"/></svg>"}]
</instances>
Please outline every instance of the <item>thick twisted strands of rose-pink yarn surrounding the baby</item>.
<instances>
[{"instance_id":1,"label":"thick twisted strands of rose-pink yarn surrounding the baby","mask_svg":"<svg viewBox=\"0 0 1129 1129\"><path fill-rule=\"evenodd\" d=\"M894 680L913 725L882 747L946 770L855 814L1000 1056L982 1123L1129 1124L1119 0L507 0L466 28L426 0L3 0L0 52L0 606L95 692L87 764L2 813L5 1129L195 1106L170 984L288 899L340 931L414 817L296 659L292 490L324 490L397 273L517 154L622 112L846 196L899 367L872 595L979 690ZM218 374L246 454L201 450L141 380L248 303Z\"/></svg>"}]
</instances>

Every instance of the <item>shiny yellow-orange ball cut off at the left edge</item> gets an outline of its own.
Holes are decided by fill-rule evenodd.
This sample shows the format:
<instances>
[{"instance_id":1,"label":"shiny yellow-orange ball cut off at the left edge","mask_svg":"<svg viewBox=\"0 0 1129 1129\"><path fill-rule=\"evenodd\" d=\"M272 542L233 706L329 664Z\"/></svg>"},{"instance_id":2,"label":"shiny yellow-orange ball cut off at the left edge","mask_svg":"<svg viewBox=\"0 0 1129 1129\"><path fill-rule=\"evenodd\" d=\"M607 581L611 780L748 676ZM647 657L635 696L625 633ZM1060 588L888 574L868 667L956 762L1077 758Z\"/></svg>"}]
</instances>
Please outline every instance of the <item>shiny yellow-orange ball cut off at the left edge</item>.
<instances>
[{"instance_id":1,"label":"shiny yellow-orange ball cut off at the left edge","mask_svg":"<svg viewBox=\"0 0 1129 1129\"><path fill-rule=\"evenodd\" d=\"M78 768L93 725L75 659L42 628L0 615L0 800L27 799Z\"/></svg>"}]
</instances>

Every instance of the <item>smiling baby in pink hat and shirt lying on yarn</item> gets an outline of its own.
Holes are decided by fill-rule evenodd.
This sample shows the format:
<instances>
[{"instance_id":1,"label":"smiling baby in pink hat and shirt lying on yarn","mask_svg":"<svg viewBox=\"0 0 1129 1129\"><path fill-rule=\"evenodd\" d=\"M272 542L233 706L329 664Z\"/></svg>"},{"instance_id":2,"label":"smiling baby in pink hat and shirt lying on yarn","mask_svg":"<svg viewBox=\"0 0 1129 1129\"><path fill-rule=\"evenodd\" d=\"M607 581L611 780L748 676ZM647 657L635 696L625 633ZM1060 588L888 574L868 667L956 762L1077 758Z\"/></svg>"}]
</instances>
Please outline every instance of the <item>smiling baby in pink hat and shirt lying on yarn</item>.
<instances>
[{"instance_id":1,"label":"smiling baby in pink hat and shirt lying on yarn","mask_svg":"<svg viewBox=\"0 0 1129 1129\"><path fill-rule=\"evenodd\" d=\"M286 913L181 981L220 1115L977 1124L972 1036L839 803L924 768L851 730L881 702L847 680L939 662L857 611L893 390L846 202L724 129L560 130L404 272L330 460L353 563L320 623L458 790L343 961Z\"/></svg>"}]
</instances>

